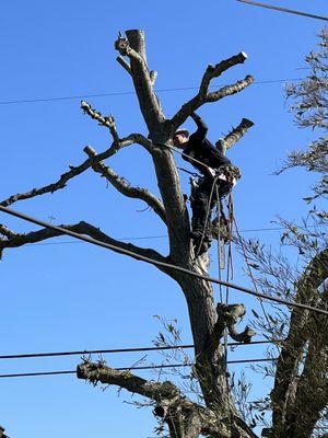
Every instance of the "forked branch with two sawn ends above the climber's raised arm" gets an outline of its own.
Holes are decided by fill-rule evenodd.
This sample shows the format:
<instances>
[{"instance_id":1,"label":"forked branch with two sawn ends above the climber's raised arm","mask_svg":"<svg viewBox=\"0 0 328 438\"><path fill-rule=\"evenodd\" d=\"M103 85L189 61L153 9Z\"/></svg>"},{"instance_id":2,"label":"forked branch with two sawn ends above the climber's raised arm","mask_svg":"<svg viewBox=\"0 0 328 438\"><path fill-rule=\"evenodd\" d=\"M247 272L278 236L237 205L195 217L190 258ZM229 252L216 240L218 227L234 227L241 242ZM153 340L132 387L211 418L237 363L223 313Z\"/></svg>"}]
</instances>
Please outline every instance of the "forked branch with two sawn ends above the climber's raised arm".
<instances>
[{"instance_id":1,"label":"forked branch with two sawn ends above the climber's raised arm","mask_svg":"<svg viewBox=\"0 0 328 438\"><path fill-rule=\"evenodd\" d=\"M238 81L233 85L223 87L216 92L209 93L209 85L212 79L220 77L225 70L230 69L237 64L243 64L247 59L247 55L242 51L238 55L232 56L229 59L216 64L215 66L209 65L200 83L199 91L195 97L184 104L181 108L172 118L174 129L177 129L197 108L208 102L215 102L226 95L231 95L242 91L248 87L253 81L253 77L247 76L243 81Z\"/></svg>"}]
</instances>

